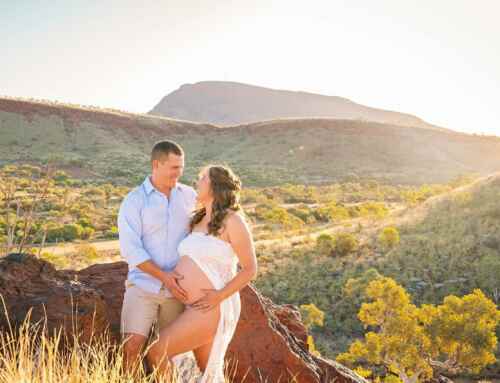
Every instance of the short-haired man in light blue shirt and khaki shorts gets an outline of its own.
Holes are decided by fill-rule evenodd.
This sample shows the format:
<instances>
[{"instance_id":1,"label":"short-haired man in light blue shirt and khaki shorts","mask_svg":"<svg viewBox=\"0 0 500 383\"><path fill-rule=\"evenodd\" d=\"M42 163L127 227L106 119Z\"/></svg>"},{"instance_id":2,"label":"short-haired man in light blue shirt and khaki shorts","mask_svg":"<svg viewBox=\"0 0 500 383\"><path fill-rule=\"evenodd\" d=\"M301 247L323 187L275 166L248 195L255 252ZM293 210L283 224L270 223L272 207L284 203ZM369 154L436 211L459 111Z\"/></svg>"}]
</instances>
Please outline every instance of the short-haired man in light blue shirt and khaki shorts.
<instances>
[{"instance_id":1,"label":"short-haired man in light blue shirt and khaki shorts","mask_svg":"<svg viewBox=\"0 0 500 383\"><path fill-rule=\"evenodd\" d=\"M152 325L159 330L184 311L182 276L172 270L197 194L178 182L183 170L182 148L173 141L158 142L151 151L151 176L125 197L118 213L120 252L129 265L121 332L130 372L136 371Z\"/></svg>"}]
</instances>

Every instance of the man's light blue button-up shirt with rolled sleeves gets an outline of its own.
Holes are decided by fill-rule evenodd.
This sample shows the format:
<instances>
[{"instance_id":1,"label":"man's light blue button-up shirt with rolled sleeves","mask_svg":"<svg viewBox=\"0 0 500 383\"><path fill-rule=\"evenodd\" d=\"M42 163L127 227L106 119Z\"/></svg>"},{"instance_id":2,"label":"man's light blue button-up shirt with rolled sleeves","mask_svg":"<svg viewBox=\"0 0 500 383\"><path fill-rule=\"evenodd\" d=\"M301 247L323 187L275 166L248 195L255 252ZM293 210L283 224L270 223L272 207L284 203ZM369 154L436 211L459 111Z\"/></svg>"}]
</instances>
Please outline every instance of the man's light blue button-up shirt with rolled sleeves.
<instances>
[{"instance_id":1,"label":"man's light blue button-up shirt with rolled sleeves","mask_svg":"<svg viewBox=\"0 0 500 383\"><path fill-rule=\"evenodd\" d=\"M137 265L151 260L164 271L175 268L177 246L189 232L196 195L192 187L177 182L167 198L149 176L127 194L118 213L118 234L120 253L129 266L128 281L152 293L160 291L162 282ZM167 295L172 296L168 290Z\"/></svg>"}]
</instances>

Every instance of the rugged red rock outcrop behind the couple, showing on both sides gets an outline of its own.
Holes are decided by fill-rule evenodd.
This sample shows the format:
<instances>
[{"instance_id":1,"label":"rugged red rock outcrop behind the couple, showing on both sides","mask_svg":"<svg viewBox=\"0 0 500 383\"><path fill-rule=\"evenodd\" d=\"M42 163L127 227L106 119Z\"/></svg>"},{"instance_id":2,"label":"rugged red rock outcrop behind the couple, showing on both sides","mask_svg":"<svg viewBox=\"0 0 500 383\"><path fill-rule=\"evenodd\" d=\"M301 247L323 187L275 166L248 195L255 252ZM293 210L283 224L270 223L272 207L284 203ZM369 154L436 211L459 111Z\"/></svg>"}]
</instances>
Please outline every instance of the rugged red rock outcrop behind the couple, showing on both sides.
<instances>
[{"instance_id":1,"label":"rugged red rock outcrop behind the couple, showing on both sides","mask_svg":"<svg viewBox=\"0 0 500 383\"><path fill-rule=\"evenodd\" d=\"M32 320L47 315L51 329L73 329L87 341L109 329L119 339L119 323L127 265L93 265L80 271L57 271L33 256L0 259L0 295L13 325L32 309ZM364 382L338 363L307 350L307 331L291 305L276 305L248 286L241 291L242 312L226 355L235 382ZM0 329L7 313L0 310ZM76 323L76 326L74 324Z\"/></svg>"}]
</instances>

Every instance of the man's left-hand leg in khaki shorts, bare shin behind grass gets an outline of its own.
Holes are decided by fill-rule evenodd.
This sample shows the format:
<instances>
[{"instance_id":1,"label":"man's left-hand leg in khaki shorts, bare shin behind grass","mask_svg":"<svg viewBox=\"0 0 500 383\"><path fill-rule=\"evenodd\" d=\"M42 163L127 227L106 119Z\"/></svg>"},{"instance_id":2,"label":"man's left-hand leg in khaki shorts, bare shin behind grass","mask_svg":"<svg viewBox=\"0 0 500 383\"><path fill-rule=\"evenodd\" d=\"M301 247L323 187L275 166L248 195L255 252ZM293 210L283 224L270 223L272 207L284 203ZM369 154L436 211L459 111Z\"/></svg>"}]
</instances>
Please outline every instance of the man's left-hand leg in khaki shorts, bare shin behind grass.
<instances>
[{"instance_id":1,"label":"man's left-hand leg in khaki shorts, bare shin behind grass","mask_svg":"<svg viewBox=\"0 0 500 383\"><path fill-rule=\"evenodd\" d=\"M158 317L158 307L159 302L155 294L128 282L123 297L121 333L124 340L124 368L132 374L135 374L139 367L142 349L151 326Z\"/></svg>"}]
</instances>

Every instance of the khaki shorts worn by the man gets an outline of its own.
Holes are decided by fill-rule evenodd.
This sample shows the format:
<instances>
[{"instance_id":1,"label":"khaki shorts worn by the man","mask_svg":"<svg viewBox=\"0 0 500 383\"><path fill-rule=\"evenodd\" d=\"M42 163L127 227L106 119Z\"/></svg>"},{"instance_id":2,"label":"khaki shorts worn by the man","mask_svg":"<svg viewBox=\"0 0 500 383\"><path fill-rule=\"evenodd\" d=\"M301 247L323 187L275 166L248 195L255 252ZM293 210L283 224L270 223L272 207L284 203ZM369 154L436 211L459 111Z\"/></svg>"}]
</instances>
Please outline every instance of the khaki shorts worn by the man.
<instances>
[{"instance_id":1,"label":"khaki shorts worn by the man","mask_svg":"<svg viewBox=\"0 0 500 383\"><path fill-rule=\"evenodd\" d=\"M122 334L139 334L148 337L154 325L156 336L159 330L176 319L184 304L178 299L165 296L164 288L159 294L150 293L125 281L120 331Z\"/></svg>"}]
</instances>

